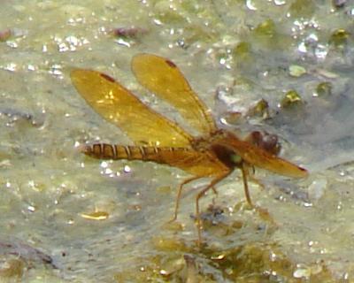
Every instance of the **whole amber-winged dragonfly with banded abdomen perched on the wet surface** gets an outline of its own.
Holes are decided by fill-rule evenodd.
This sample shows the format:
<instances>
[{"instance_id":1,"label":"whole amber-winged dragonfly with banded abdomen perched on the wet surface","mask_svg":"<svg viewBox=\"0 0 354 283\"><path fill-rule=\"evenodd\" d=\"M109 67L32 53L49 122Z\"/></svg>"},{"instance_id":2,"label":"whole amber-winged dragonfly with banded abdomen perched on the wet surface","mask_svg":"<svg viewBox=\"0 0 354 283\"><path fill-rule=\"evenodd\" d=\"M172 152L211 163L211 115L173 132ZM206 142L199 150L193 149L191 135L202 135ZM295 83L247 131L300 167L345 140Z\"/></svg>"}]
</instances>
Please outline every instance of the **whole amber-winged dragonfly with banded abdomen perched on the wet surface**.
<instances>
[{"instance_id":1,"label":"whole amber-winged dragonfly with banded abdomen perched on the wet surface","mask_svg":"<svg viewBox=\"0 0 354 283\"><path fill-rule=\"evenodd\" d=\"M304 168L277 157L271 149L259 147L257 141L243 141L235 134L218 128L211 111L169 59L138 54L133 57L131 67L143 87L172 104L200 135L189 134L172 120L153 111L112 77L92 70L74 69L71 79L81 96L98 114L119 126L135 142L133 146L87 144L81 150L90 157L151 161L189 172L192 177L184 180L178 188L172 220L177 218L182 188L193 180L212 178L196 195L199 243L202 241L199 200L210 189L216 193L214 186L235 168L241 169L244 193L250 206L253 206L247 183L250 167L296 178L307 175Z\"/></svg>"}]
</instances>

